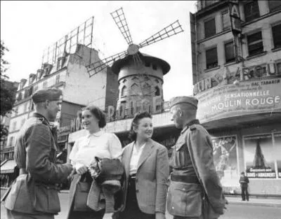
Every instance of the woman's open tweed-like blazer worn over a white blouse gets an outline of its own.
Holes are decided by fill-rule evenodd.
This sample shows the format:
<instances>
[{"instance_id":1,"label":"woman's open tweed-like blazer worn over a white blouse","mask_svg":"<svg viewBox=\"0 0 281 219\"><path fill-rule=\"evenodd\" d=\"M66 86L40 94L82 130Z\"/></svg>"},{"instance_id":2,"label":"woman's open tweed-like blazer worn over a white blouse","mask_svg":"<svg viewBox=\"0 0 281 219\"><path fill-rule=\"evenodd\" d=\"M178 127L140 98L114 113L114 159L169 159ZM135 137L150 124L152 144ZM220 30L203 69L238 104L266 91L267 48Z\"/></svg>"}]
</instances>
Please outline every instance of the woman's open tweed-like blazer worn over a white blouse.
<instances>
[{"instance_id":1,"label":"woman's open tweed-like blazer worn over a white blouse","mask_svg":"<svg viewBox=\"0 0 281 219\"><path fill-rule=\"evenodd\" d=\"M122 154L126 179L124 181L124 211L126 191L128 188L130 160L133 152L133 142L129 143ZM168 188L169 160L164 146L149 139L143 148L136 172L136 197L138 206L144 213L165 213L166 192Z\"/></svg>"}]
</instances>

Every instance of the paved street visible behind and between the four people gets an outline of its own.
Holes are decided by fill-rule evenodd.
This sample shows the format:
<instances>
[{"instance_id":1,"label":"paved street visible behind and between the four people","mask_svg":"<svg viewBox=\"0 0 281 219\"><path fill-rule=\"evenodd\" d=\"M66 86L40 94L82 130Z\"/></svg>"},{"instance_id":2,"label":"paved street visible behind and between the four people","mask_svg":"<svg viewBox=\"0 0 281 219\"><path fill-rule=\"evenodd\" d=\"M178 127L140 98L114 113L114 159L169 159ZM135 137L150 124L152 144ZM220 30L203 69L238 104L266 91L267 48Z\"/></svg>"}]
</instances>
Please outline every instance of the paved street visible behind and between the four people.
<instances>
[{"instance_id":1,"label":"paved street visible behind and between the four people","mask_svg":"<svg viewBox=\"0 0 281 219\"><path fill-rule=\"evenodd\" d=\"M65 219L66 209L68 203L68 194L60 194L61 212L55 219ZM1 204L1 219L6 219L5 210L3 204ZM281 208L270 206L251 206L247 205L247 202L240 204L228 205L228 210L221 216L220 219L280 219ZM79 218L77 218L79 219ZM104 219L110 219L110 216L106 216ZM166 219L172 219L167 214Z\"/></svg>"}]
</instances>

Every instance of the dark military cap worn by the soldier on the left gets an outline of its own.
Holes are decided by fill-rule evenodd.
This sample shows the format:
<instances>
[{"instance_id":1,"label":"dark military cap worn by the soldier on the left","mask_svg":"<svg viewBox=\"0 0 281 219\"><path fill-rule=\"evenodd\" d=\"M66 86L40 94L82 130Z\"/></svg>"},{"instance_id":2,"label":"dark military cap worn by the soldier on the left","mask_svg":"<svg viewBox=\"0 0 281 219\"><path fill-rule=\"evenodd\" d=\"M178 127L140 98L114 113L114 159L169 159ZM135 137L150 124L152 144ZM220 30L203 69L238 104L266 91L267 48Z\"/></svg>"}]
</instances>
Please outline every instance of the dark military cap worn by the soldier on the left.
<instances>
[{"instance_id":1,"label":"dark military cap worn by the soldier on the left","mask_svg":"<svg viewBox=\"0 0 281 219\"><path fill-rule=\"evenodd\" d=\"M34 104L38 104L46 101L55 101L60 100L60 96L63 95L63 92L57 88L48 88L44 90L38 90L32 95L32 100Z\"/></svg>"}]
</instances>

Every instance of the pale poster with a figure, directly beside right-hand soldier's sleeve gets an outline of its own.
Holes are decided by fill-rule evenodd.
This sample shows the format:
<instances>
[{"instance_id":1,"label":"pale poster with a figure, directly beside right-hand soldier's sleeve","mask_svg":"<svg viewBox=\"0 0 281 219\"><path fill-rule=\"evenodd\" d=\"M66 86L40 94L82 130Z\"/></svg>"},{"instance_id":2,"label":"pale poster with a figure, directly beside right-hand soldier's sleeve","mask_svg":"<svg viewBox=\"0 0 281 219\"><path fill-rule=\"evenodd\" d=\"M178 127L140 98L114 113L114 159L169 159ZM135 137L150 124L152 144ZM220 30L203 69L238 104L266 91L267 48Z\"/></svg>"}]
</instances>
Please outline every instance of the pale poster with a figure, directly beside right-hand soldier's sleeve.
<instances>
[{"instance_id":1,"label":"pale poster with a figure, directly beside right-hand soldier's sleeve","mask_svg":"<svg viewBox=\"0 0 281 219\"><path fill-rule=\"evenodd\" d=\"M220 136L211 138L214 147L214 164L224 188L239 186L237 164L237 137Z\"/></svg>"}]
</instances>

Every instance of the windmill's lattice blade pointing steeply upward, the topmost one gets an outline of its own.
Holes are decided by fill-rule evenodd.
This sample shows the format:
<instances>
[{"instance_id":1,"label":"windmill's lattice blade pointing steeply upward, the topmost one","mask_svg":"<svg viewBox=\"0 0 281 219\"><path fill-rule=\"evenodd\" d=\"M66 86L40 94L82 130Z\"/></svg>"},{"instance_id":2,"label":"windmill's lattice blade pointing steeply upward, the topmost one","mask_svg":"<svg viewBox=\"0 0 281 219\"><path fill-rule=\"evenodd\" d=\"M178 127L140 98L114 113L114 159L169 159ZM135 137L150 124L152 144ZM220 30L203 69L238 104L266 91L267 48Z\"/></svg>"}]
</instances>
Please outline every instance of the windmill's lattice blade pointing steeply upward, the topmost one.
<instances>
[{"instance_id":1,"label":"windmill's lattice blade pointing steeply upward, the topmost one","mask_svg":"<svg viewBox=\"0 0 281 219\"><path fill-rule=\"evenodd\" d=\"M115 20L117 27L121 31L121 33L124 36L128 45L131 45L133 43L133 41L131 39L130 30L129 30L128 24L126 22L126 17L124 15L123 8L119 8L118 10L115 10L114 12L112 12L110 14L111 14L113 20Z\"/></svg>"}]
</instances>

